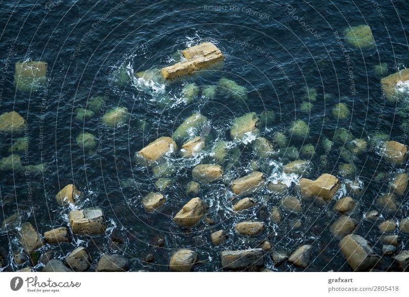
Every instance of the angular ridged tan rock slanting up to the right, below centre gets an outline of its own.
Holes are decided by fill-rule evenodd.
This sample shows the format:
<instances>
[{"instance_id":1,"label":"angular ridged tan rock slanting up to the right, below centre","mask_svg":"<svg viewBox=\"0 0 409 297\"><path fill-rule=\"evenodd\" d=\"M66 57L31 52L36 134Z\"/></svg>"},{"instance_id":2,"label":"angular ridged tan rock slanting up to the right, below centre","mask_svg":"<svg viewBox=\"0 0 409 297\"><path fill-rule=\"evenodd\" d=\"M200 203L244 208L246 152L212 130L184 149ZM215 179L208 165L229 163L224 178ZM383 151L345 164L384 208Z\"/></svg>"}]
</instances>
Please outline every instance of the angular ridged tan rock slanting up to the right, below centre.
<instances>
[{"instance_id":1,"label":"angular ridged tan rock slanting up to the right, below centre","mask_svg":"<svg viewBox=\"0 0 409 297\"><path fill-rule=\"evenodd\" d=\"M182 227L195 225L208 210L208 205L199 197L191 199L173 217L173 221Z\"/></svg>"}]
</instances>

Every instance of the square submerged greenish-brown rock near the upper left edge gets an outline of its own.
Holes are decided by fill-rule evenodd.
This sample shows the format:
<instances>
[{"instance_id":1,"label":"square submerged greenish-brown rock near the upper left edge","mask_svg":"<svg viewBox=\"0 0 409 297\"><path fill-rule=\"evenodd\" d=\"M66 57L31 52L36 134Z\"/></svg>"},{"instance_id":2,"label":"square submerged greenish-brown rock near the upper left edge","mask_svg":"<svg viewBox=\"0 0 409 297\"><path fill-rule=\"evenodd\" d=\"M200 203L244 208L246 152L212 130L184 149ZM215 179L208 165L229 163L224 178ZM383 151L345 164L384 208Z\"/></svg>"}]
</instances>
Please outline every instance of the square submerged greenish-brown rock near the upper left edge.
<instances>
[{"instance_id":1,"label":"square submerged greenish-brown rock near the upper left edge","mask_svg":"<svg viewBox=\"0 0 409 297\"><path fill-rule=\"evenodd\" d=\"M17 62L14 69L14 84L22 92L37 91L47 82L47 62Z\"/></svg>"}]
</instances>

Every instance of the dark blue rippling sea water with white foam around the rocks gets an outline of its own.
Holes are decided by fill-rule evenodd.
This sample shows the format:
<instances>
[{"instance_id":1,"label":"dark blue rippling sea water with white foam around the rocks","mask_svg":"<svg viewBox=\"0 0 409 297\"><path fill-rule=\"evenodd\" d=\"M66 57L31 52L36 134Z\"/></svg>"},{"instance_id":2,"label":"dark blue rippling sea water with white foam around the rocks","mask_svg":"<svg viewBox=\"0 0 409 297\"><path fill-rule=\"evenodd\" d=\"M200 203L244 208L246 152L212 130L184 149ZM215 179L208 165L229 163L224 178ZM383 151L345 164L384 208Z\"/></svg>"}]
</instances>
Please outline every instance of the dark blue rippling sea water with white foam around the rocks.
<instances>
[{"instance_id":1,"label":"dark blue rippling sea water with white foam around the rocks","mask_svg":"<svg viewBox=\"0 0 409 297\"><path fill-rule=\"evenodd\" d=\"M21 221L32 222L41 234L54 227L68 226L69 209L59 207L54 196L70 183L75 183L86 195L81 207L101 207L107 219L105 235L74 235L71 243L46 245L41 253L54 250L55 257L63 259L75 246L82 245L92 255L93 263L103 253L120 253L130 259L132 271L167 271L172 252L190 248L202 260L194 267L195 271L217 271L221 269L221 251L254 248L268 237L275 249L289 253L301 244L312 244L313 258L308 271L350 270L339 252L339 240L332 238L328 230L328 225L336 219L331 211L333 204L311 207L301 216L291 214L277 226L268 218L268 210L278 204L278 197L271 195L265 205L253 211L232 214L229 184L220 182L202 186L200 195L210 205L209 216L215 225L201 222L185 230L171 218L189 200L185 185L191 179L190 170L200 158L180 165L172 176L168 202L160 212L148 214L139 200L155 190L155 179L148 168L133 162L133 155L156 138L170 136L192 112L200 112L210 119L214 139L229 140L234 117L274 110L275 122L261 129L261 134L271 139L274 132L285 130L290 139L290 122L304 120L310 127L310 137L304 141L291 138L289 146L300 149L305 143L313 144L317 154L311 159L315 168L312 177L327 172L345 183L337 169L345 163L339 157L339 149L330 152L326 167L319 166L319 157L324 154L320 143L325 137L332 139L337 128L345 128L355 138L364 139L378 128L390 135L390 139L408 144L401 128L406 122L405 106L385 103L380 77L373 67L387 63L389 73L407 67L409 3L221 1L217 4L220 7L214 5L205 1L1 2L0 113L15 110L27 119L30 150L22 158L27 157L30 164L47 164L42 174L36 176L0 172L2 220L18 211ZM360 24L371 27L375 46L359 50L337 39L337 35L343 38L343 31L349 26ZM172 54L176 51L203 41L212 41L225 54L222 68L173 84L157 85L156 88L163 88L162 92L135 79L120 86L116 82L121 67L129 73L161 68L174 63ZM352 65L352 81L347 56ZM16 91L14 64L29 60L48 62L48 84L37 92ZM196 100L191 105L177 100L186 82L213 85L220 78L245 86L247 101L236 103L222 95L212 102ZM315 88L317 98L311 102L314 105L311 112L303 113L300 105L306 87ZM173 104L162 108L158 102L166 94L173 98ZM129 122L119 128L108 128L101 123L99 114L83 122L75 121L73 112L86 107L88 100L96 95L104 97L102 113L113 107L126 107L131 113ZM332 108L339 102L346 103L350 109L347 120L332 116ZM402 109L403 115L401 112L398 116ZM145 129L141 129L143 120L147 123ZM97 136L98 152L84 152L77 146L76 137L82 131ZM9 135L0 136L1 157L10 154L10 143ZM251 145L238 147L242 155L233 170L234 178L242 175L254 158ZM359 201L359 211L352 215L360 221L356 233L381 253L379 232L373 222L362 220L362 214L376 209L373 205L376 197L387 192L388 181L378 182L374 177L379 172L391 176L398 168L380 161L374 148L356 158L354 165L355 178L365 187L362 196L354 197ZM399 170L406 171L406 165L401 165ZM271 171L264 173L271 175ZM128 186L124 186L124 181ZM269 193L261 191L255 197L261 200L262 194ZM396 219L409 215L406 196L400 202ZM294 218L303 221L301 229L288 228ZM265 221L266 231L252 238L238 236L233 227L243 219ZM229 230L230 237L215 247L209 239L210 233L219 229ZM21 249L16 234L12 229L1 232L4 271L29 265L16 265L12 261L13 252ZM164 246L156 246L158 237L165 239ZM408 239L402 235L399 249L408 248ZM144 261L148 254L154 255L153 263ZM393 270L390 259L384 258L380 269ZM266 267L272 270L299 270L289 264L275 267L268 255L265 260ZM40 269L41 264L35 268Z\"/></svg>"}]
</instances>

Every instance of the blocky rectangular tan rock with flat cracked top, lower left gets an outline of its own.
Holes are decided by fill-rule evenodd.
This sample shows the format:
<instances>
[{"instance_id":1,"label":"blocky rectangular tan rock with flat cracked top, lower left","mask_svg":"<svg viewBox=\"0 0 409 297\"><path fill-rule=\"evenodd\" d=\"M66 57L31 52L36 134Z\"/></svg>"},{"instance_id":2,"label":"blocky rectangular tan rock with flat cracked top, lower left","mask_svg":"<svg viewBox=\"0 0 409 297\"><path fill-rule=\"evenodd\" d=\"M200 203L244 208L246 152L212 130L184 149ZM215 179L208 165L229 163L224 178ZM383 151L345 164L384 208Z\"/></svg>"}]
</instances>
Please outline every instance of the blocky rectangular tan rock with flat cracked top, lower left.
<instances>
[{"instance_id":1,"label":"blocky rectangular tan rock with flat cracked top, lower left","mask_svg":"<svg viewBox=\"0 0 409 297\"><path fill-rule=\"evenodd\" d=\"M99 235L105 233L105 217L100 208L76 209L69 213L74 234Z\"/></svg>"}]
</instances>

